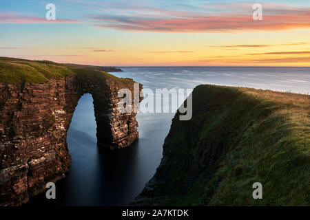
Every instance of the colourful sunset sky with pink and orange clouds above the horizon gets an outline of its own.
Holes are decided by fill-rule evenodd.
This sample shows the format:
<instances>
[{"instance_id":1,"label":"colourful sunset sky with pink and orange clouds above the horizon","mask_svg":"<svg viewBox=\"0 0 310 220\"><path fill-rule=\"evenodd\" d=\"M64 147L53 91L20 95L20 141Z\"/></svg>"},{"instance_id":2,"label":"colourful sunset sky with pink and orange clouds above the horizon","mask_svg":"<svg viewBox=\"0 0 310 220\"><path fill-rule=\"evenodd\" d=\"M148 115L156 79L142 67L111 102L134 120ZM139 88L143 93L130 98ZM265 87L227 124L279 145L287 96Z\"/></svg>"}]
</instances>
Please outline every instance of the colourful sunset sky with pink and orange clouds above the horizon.
<instances>
[{"instance_id":1,"label":"colourful sunset sky with pink and orange clouds above the horizon","mask_svg":"<svg viewBox=\"0 0 310 220\"><path fill-rule=\"evenodd\" d=\"M45 18L48 3L55 20ZM253 5L262 5L254 20ZM1 0L0 56L109 66L310 66L310 1Z\"/></svg>"}]
</instances>

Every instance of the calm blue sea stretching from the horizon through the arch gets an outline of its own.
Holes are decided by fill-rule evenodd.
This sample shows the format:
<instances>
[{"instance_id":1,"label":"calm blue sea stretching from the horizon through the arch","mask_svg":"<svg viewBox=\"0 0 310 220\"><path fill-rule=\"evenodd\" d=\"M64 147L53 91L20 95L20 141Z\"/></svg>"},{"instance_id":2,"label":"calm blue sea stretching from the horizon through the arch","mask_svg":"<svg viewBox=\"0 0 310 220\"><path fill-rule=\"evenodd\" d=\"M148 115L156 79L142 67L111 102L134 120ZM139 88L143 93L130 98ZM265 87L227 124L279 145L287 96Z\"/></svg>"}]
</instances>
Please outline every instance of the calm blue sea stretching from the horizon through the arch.
<instances>
[{"instance_id":1,"label":"calm blue sea stretching from the horizon through the arch","mask_svg":"<svg viewBox=\"0 0 310 220\"><path fill-rule=\"evenodd\" d=\"M310 94L309 67L122 67L111 73L133 78L145 89L194 89L200 84L232 85ZM207 95L207 94L206 94ZM141 103L143 104L143 103ZM56 183L56 199L45 194L28 206L125 206L141 192L161 162L174 113L138 113L140 139L116 151L96 146L92 96L79 100L68 131L72 166Z\"/></svg>"}]
</instances>

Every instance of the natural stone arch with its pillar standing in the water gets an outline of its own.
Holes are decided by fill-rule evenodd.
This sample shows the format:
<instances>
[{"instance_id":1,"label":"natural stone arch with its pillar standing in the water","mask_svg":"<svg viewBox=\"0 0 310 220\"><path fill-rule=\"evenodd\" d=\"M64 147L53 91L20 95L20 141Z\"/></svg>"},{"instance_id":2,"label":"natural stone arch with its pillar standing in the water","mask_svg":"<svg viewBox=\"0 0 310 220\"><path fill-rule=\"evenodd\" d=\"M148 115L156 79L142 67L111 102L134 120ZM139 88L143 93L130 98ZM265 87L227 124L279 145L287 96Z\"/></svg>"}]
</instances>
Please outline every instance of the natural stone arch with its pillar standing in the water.
<instances>
[{"instance_id":1,"label":"natural stone arch with its pillar standing in the water","mask_svg":"<svg viewBox=\"0 0 310 220\"><path fill-rule=\"evenodd\" d=\"M133 81L131 83L116 83L110 79L76 76L66 81L66 88L68 90L66 100L71 118L81 96L83 94L92 95L97 125L96 137L98 146L111 149L122 148L138 139L138 122L136 122L134 109L130 113L120 113L118 111L118 102L122 99L118 97L118 91L126 88L130 89L132 94L134 94ZM139 94L141 89L142 85L140 86ZM76 94L76 98L73 98L74 103L70 103L70 100L72 100L71 92ZM141 100L142 98L140 98ZM132 103L133 105L134 103ZM72 106L74 106L73 111L70 109Z\"/></svg>"}]
</instances>

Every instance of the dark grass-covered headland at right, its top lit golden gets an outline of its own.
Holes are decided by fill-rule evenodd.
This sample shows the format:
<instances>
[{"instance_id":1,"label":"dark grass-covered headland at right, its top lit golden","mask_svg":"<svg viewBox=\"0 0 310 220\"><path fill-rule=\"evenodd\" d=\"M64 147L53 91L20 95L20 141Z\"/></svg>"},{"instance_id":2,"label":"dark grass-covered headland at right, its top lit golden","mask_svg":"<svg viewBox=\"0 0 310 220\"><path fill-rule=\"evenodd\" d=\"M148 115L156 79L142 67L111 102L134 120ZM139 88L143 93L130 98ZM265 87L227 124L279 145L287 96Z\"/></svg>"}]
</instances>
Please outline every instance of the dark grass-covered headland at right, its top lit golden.
<instances>
[{"instance_id":1,"label":"dark grass-covered headland at right, its top lit golden","mask_svg":"<svg viewBox=\"0 0 310 220\"><path fill-rule=\"evenodd\" d=\"M310 205L310 96L200 85L136 205ZM263 199L252 185L262 184Z\"/></svg>"}]
</instances>

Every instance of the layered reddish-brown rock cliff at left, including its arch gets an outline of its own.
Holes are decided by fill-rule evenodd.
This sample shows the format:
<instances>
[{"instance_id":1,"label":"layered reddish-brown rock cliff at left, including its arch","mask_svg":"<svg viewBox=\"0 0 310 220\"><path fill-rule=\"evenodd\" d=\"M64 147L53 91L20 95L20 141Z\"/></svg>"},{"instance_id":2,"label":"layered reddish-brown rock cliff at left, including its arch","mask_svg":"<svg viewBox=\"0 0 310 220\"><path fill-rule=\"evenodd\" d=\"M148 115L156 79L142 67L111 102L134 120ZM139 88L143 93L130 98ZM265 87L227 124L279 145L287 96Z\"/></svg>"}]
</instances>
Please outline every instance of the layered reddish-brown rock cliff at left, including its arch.
<instances>
[{"instance_id":1,"label":"layered reddish-brown rock cliff at left, including its arch","mask_svg":"<svg viewBox=\"0 0 310 220\"><path fill-rule=\"evenodd\" d=\"M66 137L79 98L94 98L98 145L122 148L138 139L136 113L119 113L118 90L132 80L85 76L48 83L0 83L0 206L21 205L65 177ZM141 87L140 87L141 89Z\"/></svg>"}]
</instances>

